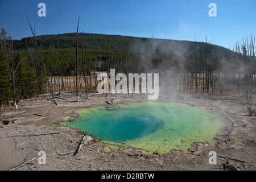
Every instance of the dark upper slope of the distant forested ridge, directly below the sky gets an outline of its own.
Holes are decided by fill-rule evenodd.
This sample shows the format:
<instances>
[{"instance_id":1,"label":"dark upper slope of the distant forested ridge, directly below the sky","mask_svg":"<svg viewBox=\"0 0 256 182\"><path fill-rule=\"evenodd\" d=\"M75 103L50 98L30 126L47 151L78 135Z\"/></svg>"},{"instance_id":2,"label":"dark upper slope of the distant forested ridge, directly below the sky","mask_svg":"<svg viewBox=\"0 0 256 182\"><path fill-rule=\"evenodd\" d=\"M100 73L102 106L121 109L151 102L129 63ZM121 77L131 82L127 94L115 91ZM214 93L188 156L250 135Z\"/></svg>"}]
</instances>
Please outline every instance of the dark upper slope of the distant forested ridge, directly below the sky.
<instances>
[{"instance_id":1,"label":"dark upper slope of the distant forested ridge, directly below the sky","mask_svg":"<svg viewBox=\"0 0 256 182\"><path fill-rule=\"evenodd\" d=\"M164 53L182 52L186 56L205 55L207 50L205 42L191 42L186 40L169 40L169 39L155 39L155 38L138 38L132 36L122 35L105 35L105 34L88 34L79 33L79 48L82 48L82 39L84 49L91 50L109 50L116 49L117 51L129 51L132 49L135 52L142 52L142 47L147 51L162 51ZM76 33L54 34L54 35L40 35L36 36L38 45L42 49L53 48L70 49L76 48ZM21 40L14 40L14 49L27 49L27 47L34 47L34 38L28 37ZM196 51L197 50L197 51ZM214 57L232 57L233 51L224 47L209 44L208 51Z\"/></svg>"}]
</instances>

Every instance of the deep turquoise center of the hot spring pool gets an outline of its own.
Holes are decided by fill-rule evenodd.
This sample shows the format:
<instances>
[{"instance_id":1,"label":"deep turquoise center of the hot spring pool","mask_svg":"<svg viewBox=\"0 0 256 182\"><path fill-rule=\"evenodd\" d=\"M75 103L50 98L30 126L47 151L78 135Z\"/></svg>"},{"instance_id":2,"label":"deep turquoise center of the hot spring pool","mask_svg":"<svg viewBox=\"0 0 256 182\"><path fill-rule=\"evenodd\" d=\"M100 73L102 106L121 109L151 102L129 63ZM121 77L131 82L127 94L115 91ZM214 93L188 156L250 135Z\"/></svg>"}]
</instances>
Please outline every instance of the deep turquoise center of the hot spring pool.
<instances>
[{"instance_id":1,"label":"deep turquoise center of the hot spring pool","mask_svg":"<svg viewBox=\"0 0 256 182\"><path fill-rule=\"evenodd\" d=\"M101 139L113 142L141 138L158 131L162 126L162 119L151 114L106 115L86 123L87 130L100 134L98 137Z\"/></svg>"}]
</instances>

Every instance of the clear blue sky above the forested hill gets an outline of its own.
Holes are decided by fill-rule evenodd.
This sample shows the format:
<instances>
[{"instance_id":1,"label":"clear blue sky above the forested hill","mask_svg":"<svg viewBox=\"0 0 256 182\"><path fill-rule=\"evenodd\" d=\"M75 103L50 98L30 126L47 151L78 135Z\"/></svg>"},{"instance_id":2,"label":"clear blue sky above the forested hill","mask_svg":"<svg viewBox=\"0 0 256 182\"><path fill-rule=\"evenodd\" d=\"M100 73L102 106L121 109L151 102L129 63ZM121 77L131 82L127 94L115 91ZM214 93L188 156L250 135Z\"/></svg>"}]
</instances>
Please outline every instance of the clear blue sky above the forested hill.
<instances>
[{"instance_id":1,"label":"clear blue sky above the forested hill","mask_svg":"<svg viewBox=\"0 0 256 182\"><path fill-rule=\"evenodd\" d=\"M46 4L46 17L38 4ZM217 16L210 17L209 3ZM174 40L201 40L233 49L237 41L256 35L255 0L0 0L0 27L7 36L32 36L27 16L37 35L79 32Z\"/></svg>"}]
</instances>

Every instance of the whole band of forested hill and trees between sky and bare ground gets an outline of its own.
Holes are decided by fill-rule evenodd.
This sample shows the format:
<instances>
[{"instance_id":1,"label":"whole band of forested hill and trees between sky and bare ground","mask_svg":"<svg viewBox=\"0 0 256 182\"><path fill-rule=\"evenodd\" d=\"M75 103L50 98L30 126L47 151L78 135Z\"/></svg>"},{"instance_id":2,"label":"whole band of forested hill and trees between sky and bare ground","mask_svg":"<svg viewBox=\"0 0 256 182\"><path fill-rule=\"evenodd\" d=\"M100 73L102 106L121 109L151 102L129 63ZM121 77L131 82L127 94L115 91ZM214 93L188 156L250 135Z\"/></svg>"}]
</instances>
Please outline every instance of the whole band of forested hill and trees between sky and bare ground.
<instances>
[{"instance_id":1,"label":"whole band of forested hill and trees between sky and bare ground","mask_svg":"<svg viewBox=\"0 0 256 182\"><path fill-rule=\"evenodd\" d=\"M79 85L79 92L97 92L97 73L107 72L110 76L113 68L115 74L159 73L160 89L165 93L176 90L214 96L236 88L246 100L253 95L253 38L237 43L231 51L210 44L207 39L189 42L77 32L13 40L6 34L2 28L2 105L18 103L50 89L75 92L75 85Z\"/></svg>"}]
</instances>

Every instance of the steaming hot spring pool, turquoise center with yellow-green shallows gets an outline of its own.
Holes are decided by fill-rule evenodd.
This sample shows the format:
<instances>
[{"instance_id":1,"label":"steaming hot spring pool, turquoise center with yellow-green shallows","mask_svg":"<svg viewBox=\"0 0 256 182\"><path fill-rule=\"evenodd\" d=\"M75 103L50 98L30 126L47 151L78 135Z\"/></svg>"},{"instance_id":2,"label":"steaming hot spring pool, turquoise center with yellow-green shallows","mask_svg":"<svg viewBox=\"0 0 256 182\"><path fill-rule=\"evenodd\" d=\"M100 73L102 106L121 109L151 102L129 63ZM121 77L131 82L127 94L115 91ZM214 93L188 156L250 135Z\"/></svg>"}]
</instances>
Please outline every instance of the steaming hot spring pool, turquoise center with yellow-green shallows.
<instances>
[{"instance_id":1,"label":"steaming hot spring pool, turquoise center with yellow-green shallows","mask_svg":"<svg viewBox=\"0 0 256 182\"><path fill-rule=\"evenodd\" d=\"M161 154L173 148L187 151L193 142L212 143L228 126L216 114L174 102L136 102L115 109L99 106L77 113L79 119L63 124L88 131L108 143Z\"/></svg>"}]
</instances>

